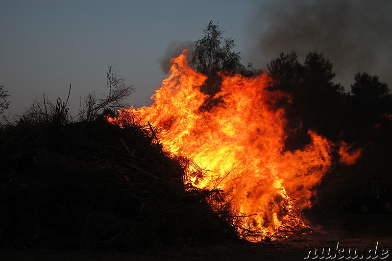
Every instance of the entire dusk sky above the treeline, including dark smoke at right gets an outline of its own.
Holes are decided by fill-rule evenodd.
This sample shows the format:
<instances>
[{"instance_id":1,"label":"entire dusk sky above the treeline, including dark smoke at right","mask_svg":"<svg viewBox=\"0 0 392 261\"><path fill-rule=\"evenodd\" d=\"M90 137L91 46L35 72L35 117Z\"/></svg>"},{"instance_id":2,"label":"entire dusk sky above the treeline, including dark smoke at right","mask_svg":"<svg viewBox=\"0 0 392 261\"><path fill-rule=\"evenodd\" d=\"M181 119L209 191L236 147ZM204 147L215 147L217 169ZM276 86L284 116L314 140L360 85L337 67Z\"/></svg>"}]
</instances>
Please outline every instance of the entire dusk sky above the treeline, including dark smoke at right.
<instances>
[{"instance_id":1,"label":"entire dusk sky above the treeline, including dark smoke at right","mask_svg":"<svg viewBox=\"0 0 392 261\"><path fill-rule=\"evenodd\" d=\"M371 3L372 2L372 3ZM150 105L167 75L161 68L176 44L203 36L210 20L236 40L243 63L265 69L280 52L324 52L335 82L350 91L367 71L391 87L392 1L361 0L1 0L0 85L20 114L43 94L66 99L106 91L116 64L136 92L129 102ZM302 60L301 60L302 59Z\"/></svg>"}]
</instances>

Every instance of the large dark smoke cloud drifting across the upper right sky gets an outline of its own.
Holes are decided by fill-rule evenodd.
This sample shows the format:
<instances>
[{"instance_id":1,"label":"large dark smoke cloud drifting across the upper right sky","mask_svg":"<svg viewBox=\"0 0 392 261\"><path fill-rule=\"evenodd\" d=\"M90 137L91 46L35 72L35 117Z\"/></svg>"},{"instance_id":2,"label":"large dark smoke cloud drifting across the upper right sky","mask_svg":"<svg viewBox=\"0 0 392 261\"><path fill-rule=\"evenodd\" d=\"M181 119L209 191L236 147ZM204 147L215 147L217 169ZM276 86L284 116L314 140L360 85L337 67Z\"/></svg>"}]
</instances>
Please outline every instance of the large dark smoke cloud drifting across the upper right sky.
<instances>
[{"instance_id":1,"label":"large dark smoke cloud drifting across the upper right sky","mask_svg":"<svg viewBox=\"0 0 392 261\"><path fill-rule=\"evenodd\" d=\"M269 1L250 23L257 45L247 58L265 68L281 52L296 51L299 62L310 51L323 52L346 91L358 71L392 86L391 11L390 0Z\"/></svg>"}]
</instances>

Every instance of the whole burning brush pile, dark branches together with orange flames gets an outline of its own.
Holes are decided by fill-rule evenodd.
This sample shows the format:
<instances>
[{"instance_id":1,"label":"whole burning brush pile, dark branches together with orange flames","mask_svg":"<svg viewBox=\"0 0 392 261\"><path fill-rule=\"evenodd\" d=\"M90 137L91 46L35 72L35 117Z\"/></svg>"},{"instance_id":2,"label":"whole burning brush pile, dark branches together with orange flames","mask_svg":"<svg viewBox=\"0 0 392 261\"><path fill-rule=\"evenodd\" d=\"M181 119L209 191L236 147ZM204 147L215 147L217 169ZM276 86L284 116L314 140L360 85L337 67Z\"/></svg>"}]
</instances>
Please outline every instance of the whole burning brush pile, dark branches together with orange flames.
<instances>
[{"instance_id":1,"label":"whole burning brush pile, dark branches together with orange flames","mask_svg":"<svg viewBox=\"0 0 392 261\"><path fill-rule=\"evenodd\" d=\"M269 90L267 74L219 73L211 95L185 51L170 72L150 107L1 129L2 244L128 250L309 231L301 212L333 155L352 164L360 150L313 131L309 144L286 150L278 104L290 97Z\"/></svg>"}]
</instances>

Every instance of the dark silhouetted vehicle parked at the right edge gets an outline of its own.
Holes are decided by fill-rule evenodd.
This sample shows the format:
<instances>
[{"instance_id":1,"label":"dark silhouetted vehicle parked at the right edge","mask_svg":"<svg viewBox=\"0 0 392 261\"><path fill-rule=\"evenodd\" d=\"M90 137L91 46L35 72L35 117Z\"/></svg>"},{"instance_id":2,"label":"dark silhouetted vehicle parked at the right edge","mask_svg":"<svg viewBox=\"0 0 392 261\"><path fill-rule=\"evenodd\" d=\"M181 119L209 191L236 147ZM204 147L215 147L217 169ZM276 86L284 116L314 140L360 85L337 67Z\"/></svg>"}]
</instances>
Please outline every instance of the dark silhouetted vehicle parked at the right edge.
<instances>
[{"instance_id":1,"label":"dark silhouetted vehicle parked at the right edge","mask_svg":"<svg viewBox=\"0 0 392 261\"><path fill-rule=\"evenodd\" d=\"M369 211L392 213L392 183L372 181L370 193L361 195L351 205L354 210L361 213Z\"/></svg>"}]
</instances>

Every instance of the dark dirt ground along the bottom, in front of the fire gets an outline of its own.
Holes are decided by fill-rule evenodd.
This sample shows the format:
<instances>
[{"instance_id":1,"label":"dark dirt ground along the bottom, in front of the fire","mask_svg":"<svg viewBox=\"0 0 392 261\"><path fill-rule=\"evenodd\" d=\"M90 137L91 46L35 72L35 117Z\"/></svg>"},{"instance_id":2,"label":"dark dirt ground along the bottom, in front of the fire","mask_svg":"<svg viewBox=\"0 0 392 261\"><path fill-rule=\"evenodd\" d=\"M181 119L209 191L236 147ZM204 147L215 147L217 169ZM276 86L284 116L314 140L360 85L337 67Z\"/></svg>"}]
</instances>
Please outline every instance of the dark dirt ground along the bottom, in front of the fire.
<instances>
[{"instance_id":1,"label":"dark dirt ground along the bottom, in front of the fire","mask_svg":"<svg viewBox=\"0 0 392 261\"><path fill-rule=\"evenodd\" d=\"M392 260L392 214L359 214L338 210L320 214L309 221L315 229L314 234L283 242L228 241L213 245L172 246L138 253L0 249L0 261L295 261L304 260L306 247L332 247L334 241L339 241L339 246L356 247L359 254L377 241L379 248L389 250L388 257L383 260Z\"/></svg>"}]
</instances>

